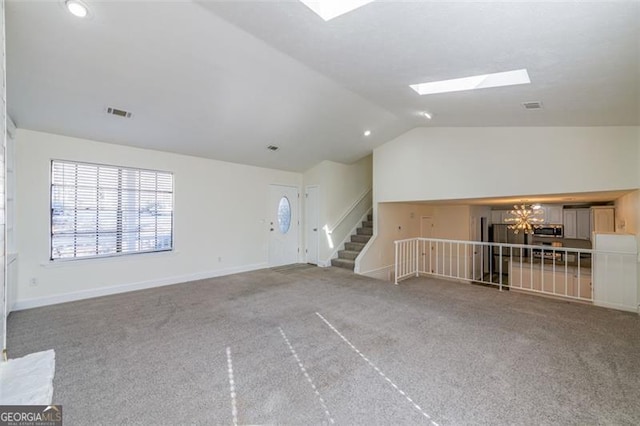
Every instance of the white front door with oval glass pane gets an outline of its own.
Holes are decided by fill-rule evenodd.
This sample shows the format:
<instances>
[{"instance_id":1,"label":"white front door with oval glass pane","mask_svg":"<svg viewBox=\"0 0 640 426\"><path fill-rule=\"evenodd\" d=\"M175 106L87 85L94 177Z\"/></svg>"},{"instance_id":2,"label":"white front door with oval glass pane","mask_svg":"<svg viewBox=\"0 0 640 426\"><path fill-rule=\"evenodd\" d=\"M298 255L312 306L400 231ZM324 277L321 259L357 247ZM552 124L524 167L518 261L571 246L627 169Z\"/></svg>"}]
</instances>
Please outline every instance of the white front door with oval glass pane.
<instances>
[{"instance_id":1,"label":"white front door with oval glass pane","mask_svg":"<svg viewBox=\"0 0 640 426\"><path fill-rule=\"evenodd\" d=\"M269 266L298 262L298 188L269 185Z\"/></svg>"}]
</instances>

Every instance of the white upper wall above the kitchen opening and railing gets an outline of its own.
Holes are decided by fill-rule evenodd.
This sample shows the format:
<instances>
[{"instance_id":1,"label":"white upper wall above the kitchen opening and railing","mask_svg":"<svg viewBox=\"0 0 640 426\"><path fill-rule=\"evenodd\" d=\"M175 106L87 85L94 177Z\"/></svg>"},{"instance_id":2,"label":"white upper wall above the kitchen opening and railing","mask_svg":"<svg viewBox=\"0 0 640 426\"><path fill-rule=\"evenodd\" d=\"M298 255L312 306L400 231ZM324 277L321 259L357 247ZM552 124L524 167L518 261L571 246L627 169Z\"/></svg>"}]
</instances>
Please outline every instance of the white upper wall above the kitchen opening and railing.
<instances>
[{"instance_id":1,"label":"white upper wall above the kitchen opening and railing","mask_svg":"<svg viewBox=\"0 0 640 426\"><path fill-rule=\"evenodd\" d=\"M640 127L416 128L374 150L374 202L635 189Z\"/></svg>"}]
</instances>

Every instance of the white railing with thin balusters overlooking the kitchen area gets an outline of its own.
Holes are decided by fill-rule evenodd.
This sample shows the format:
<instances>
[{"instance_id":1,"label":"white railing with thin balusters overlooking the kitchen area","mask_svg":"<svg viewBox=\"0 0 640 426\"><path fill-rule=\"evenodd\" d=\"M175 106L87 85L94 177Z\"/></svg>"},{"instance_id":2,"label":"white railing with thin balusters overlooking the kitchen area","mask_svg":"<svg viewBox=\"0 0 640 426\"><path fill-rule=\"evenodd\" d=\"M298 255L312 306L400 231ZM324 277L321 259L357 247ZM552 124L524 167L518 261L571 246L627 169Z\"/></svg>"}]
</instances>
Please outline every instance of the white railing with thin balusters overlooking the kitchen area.
<instances>
[{"instance_id":1,"label":"white railing with thin balusters overlooking the kitchen area","mask_svg":"<svg viewBox=\"0 0 640 426\"><path fill-rule=\"evenodd\" d=\"M395 283L412 276L593 300L593 250L412 238L395 241Z\"/></svg>"}]
</instances>

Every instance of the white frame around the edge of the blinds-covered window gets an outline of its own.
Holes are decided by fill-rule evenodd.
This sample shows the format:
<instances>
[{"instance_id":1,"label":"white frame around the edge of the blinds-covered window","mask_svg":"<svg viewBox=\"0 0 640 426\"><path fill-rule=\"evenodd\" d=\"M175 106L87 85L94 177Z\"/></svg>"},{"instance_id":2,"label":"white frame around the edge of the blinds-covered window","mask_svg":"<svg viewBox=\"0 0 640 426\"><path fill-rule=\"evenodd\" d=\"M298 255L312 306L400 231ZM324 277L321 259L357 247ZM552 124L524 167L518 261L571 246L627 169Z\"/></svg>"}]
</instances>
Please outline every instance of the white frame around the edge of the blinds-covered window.
<instances>
[{"instance_id":1,"label":"white frame around the edge of the blinds-covered window","mask_svg":"<svg viewBox=\"0 0 640 426\"><path fill-rule=\"evenodd\" d=\"M67 163L74 165L84 165L84 166L93 166L93 167L110 167L118 170L133 170L139 172L151 172L151 173L164 173L171 176L171 246L168 248L155 249L155 250L144 250L144 251L129 251L129 252L119 252L119 253L109 253L109 254L95 254L90 256L72 256L72 257L54 257L53 256L53 187L54 187L54 163ZM143 167L132 167L132 166L121 166L115 164L108 163L97 163L91 161L81 161L81 160L65 160L60 158L51 158L49 161L49 262L50 263L64 263L64 262L74 262L78 260L101 260L101 259L126 259L132 255L158 255L162 253L172 253L175 252L175 175L173 172L169 172L166 170L158 170L158 169L149 169ZM122 191L122 188L118 189ZM119 233L122 231L120 230Z\"/></svg>"}]
</instances>

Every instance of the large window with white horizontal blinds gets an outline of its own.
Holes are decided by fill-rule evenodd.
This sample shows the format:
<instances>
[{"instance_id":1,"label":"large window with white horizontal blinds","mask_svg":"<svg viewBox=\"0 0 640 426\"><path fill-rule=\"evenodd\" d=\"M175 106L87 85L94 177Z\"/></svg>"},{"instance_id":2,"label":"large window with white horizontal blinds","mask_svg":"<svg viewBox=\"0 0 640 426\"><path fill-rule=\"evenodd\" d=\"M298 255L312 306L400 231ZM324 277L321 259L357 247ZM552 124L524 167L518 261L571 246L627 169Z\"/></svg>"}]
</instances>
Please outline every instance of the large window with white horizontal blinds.
<instances>
[{"instance_id":1,"label":"large window with white horizontal blinds","mask_svg":"<svg viewBox=\"0 0 640 426\"><path fill-rule=\"evenodd\" d=\"M173 248L173 174L51 162L51 259Z\"/></svg>"}]
</instances>

